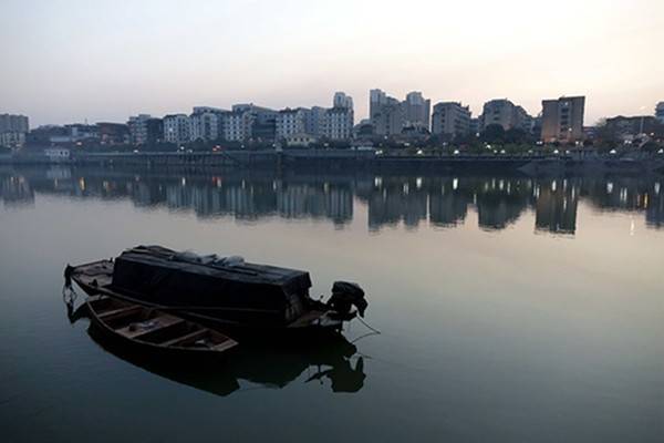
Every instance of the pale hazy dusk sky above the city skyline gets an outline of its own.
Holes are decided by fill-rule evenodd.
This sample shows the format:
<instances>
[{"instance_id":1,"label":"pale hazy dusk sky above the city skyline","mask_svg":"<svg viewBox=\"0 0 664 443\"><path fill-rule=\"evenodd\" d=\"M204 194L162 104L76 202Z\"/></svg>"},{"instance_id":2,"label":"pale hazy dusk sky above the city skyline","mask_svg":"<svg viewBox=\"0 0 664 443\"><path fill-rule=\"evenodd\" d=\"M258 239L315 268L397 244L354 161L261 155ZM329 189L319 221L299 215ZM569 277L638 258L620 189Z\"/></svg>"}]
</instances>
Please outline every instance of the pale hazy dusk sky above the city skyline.
<instances>
[{"instance_id":1,"label":"pale hazy dusk sky above the city skyline","mask_svg":"<svg viewBox=\"0 0 664 443\"><path fill-rule=\"evenodd\" d=\"M31 125L369 90L474 114L587 95L587 123L664 101L664 0L0 0L0 113Z\"/></svg>"}]
</instances>

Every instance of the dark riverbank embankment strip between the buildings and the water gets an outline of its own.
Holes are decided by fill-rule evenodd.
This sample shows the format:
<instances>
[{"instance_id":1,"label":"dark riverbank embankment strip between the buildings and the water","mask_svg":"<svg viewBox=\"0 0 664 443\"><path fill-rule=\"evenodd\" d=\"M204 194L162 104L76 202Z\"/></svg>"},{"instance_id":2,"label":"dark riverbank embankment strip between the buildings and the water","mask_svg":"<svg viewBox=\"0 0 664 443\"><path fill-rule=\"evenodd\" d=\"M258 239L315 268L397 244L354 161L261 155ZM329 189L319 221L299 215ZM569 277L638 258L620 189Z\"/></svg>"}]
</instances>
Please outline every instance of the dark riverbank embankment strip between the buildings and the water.
<instances>
[{"instance_id":1,"label":"dark riverbank embankment strip between the buildings and the water","mask_svg":"<svg viewBox=\"0 0 664 443\"><path fill-rule=\"evenodd\" d=\"M660 158L662 157L662 158ZM556 173L664 174L664 156L618 157L615 155L384 155L374 151L225 151L72 153L52 157L41 153L0 156L8 165L75 165L102 167L187 168L362 168L375 172L521 172L528 175Z\"/></svg>"}]
</instances>

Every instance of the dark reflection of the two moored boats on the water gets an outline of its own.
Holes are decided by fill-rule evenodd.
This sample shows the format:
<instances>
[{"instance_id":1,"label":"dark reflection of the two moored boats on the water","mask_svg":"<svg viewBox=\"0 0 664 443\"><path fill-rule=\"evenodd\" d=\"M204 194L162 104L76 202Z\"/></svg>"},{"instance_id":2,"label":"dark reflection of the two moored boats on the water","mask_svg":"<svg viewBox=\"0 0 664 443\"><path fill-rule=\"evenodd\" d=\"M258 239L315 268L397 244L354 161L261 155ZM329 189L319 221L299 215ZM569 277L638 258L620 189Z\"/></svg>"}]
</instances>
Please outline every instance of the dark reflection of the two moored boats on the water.
<instances>
[{"instance_id":1,"label":"dark reflection of the two moored boats on the water","mask_svg":"<svg viewBox=\"0 0 664 443\"><path fill-rule=\"evenodd\" d=\"M73 310L68 303L68 318L73 323L85 318L85 305ZM90 337L105 351L170 381L216 395L230 395L259 385L282 389L290 383L320 382L333 392L359 392L364 387L364 358L355 344L334 334L324 342L297 342L278 346L242 344L228 357L200 358L196 361L147 356L110 341L93 324ZM307 373L307 374L305 374ZM249 388L243 387L249 384Z\"/></svg>"}]
</instances>

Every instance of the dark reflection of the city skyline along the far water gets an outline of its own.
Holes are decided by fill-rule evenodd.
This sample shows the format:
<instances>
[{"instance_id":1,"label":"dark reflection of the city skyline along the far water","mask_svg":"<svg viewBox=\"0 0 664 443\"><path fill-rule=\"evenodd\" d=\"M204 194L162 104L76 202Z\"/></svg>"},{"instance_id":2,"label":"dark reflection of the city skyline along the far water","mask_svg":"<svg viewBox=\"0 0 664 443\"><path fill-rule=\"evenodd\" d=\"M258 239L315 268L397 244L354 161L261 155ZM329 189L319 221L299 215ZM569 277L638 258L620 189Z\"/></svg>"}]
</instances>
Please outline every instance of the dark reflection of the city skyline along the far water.
<instances>
[{"instance_id":1,"label":"dark reflection of the city skyline along the far water","mask_svg":"<svg viewBox=\"0 0 664 443\"><path fill-rule=\"evenodd\" d=\"M159 171L49 168L0 169L3 205L33 204L35 193L74 198L131 199L138 207L193 210L199 217L325 219L343 228L356 205L367 208L370 230L429 223L450 228L477 213L486 230L509 227L527 210L538 231L573 235L578 207L644 214L647 226L664 220L662 177L413 176L361 172L168 173Z\"/></svg>"}]
</instances>

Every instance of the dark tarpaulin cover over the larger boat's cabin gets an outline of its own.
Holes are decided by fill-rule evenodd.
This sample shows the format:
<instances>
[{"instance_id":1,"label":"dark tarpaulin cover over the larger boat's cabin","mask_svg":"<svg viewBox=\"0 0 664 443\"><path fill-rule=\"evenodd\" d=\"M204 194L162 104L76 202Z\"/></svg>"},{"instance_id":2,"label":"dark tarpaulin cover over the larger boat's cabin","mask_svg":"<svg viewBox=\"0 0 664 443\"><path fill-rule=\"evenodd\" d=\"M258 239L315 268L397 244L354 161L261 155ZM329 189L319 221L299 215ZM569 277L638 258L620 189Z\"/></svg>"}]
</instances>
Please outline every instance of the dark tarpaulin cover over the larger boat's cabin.
<instances>
[{"instance_id":1,"label":"dark tarpaulin cover over the larger boat's cabin","mask_svg":"<svg viewBox=\"0 0 664 443\"><path fill-rule=\"evenodd\" d=\"M139 246L115 259L113 287L162 306L278 311L311 287L309 272L266 265L203 265L158 246Z\"/></svg>"}]
</instances>

